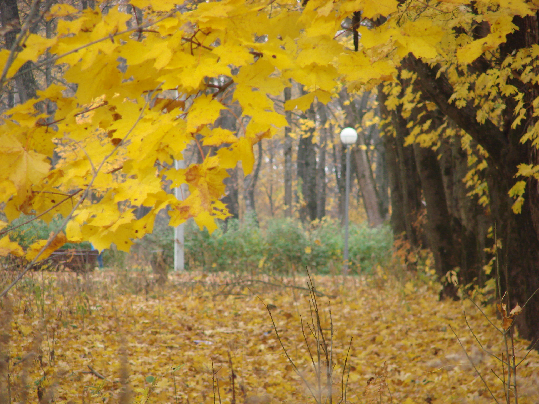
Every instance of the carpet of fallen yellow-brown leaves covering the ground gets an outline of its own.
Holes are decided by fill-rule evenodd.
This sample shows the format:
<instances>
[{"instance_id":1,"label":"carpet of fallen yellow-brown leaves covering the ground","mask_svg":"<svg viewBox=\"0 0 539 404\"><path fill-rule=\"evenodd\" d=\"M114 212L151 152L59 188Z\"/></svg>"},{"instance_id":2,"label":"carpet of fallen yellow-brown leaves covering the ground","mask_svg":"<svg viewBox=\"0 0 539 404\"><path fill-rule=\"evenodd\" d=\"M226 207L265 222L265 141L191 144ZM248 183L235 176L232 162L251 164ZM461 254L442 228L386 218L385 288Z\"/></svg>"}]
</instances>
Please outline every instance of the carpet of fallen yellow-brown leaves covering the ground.
<instances>
[{"instance_id":1,"label":"carpet of fallen yellow-brown leaves covering the ground","mask_svg":"<svg viewBox=\"0 0 539 404\"><path fill-rule=\"evenodd\" d=\"M302 322L318 366L308 331L316 319L309 292L301 289L306 278L288 280L300 287L294 288L183 275L163 288L146 280L133 294L130 281L118 275L31 276L2 303L0 321L10 340L0 347L9 352L12 402L25 396L57 404L315 402L301 381L315 379ZM494 402L471 362L505 402L494 374L501 377L502 366L479 348L463 311L485 349L501 357L503 341L470 302L438 302L436 291L419 283L347 278L343 287L342 278L322 276L314 282L324 294L317 297L321 328L334 357L333 403L342 399L344 385L345 401L354 404ZM501 322L493 308L484 310ZM515 345L518 361L528 343L516 338ZM521 404L539 402L538 358L532 351L519 367Z\"/></svg>"}]
</instances>

